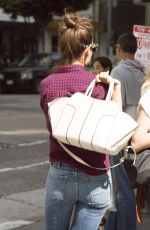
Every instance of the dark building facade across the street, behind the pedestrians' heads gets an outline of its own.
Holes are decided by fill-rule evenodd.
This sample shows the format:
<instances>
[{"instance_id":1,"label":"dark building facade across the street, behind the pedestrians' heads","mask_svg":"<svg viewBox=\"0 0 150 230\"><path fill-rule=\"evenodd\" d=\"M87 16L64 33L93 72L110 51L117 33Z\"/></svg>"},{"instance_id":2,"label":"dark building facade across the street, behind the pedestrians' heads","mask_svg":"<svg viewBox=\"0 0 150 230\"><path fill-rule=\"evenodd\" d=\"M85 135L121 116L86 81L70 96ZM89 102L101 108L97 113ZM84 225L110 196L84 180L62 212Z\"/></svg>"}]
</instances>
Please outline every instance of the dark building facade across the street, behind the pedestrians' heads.
<instances>
[{"instance_id":1,"label":"dark building facade across the street, behind the pedestrians' heads","mask_svg":"<svg viewBox=\"0 0 150 230\"><path fill-rule=\"evenodd\" d=\"M88 10L77 13L94 24L94 41L99 44L96 55L113 56L121 33L132 32L134 24L150 25L150 2L142 0L94 0ZM58 20L54 16L41 30L32 18L12 21L0 10L0 55L8 63L17 63L29 53L58 51Z\"/></svg>"}]
</instances>

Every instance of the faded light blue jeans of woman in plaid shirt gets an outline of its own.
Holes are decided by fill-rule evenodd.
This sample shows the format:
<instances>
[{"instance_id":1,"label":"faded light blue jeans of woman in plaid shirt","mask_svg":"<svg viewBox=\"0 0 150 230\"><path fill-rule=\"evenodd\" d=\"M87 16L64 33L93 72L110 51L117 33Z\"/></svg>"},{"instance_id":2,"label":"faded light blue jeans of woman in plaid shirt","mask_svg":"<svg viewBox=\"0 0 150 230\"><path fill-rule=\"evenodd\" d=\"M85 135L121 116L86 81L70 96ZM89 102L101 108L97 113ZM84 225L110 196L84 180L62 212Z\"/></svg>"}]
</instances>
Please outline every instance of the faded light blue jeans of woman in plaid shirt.
<instances>
[{"instance_id":1,"label":"faded light blue jeans of woman in plaid shirt","mask_svg":"<svg viewBox=\"0 0 150 230\"><path fill-rule=\"evenodd\" d=\"M53 163L46 182L46 230L97 230L111 207L110 176L90 176L64 163Z\"/></svg>"}]
</instances>

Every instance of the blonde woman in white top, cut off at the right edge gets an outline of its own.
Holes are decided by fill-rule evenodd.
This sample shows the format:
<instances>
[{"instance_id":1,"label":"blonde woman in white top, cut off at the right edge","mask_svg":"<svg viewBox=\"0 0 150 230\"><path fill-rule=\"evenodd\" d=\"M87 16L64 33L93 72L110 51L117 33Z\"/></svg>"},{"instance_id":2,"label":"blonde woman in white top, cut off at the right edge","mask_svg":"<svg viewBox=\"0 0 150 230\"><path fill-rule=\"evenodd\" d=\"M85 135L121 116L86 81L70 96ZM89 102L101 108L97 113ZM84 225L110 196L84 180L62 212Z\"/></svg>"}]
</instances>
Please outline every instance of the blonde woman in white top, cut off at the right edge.
<instances>
[{"instance_id":1,"label":"blonde woman in white top, cut off at the right edge","mask_svg":"<svg viewBox=\"0 0 150 230\"><path fill-rule=\"evenodd\" d=\"M136 152L150 148L150 67L146 74L146 80L141 89L141 98L139 101L138 118L139 127L136 129L131 144ZM149 199L149 188L137 189L137 218L142 222L141 208L144 207L145 200Z\"/></svg>"}]
</instances>

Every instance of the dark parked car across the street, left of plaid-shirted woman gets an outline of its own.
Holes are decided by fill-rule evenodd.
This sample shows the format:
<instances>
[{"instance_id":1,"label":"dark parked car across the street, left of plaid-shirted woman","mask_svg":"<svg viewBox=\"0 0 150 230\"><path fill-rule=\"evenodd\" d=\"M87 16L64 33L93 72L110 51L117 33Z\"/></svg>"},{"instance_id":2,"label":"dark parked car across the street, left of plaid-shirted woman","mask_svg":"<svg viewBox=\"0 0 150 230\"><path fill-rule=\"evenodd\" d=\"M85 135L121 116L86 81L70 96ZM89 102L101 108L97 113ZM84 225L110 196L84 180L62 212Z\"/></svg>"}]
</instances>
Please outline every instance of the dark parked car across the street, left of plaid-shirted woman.
<instances>
[{"instance_id":1,"label":"dark parked car across the street, left of plaid-shirted woman","mask_svg":"<svg viewBox=\"0 0 150 230\"><path fill-rule=\"evenodd\" d=\"M39 53L26 56L17 67L3 70L2 92L40 92L40 81L60 58L59 53Z\"/></svg>"}]
</instances>

